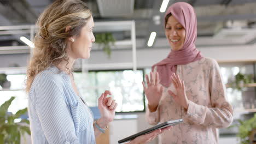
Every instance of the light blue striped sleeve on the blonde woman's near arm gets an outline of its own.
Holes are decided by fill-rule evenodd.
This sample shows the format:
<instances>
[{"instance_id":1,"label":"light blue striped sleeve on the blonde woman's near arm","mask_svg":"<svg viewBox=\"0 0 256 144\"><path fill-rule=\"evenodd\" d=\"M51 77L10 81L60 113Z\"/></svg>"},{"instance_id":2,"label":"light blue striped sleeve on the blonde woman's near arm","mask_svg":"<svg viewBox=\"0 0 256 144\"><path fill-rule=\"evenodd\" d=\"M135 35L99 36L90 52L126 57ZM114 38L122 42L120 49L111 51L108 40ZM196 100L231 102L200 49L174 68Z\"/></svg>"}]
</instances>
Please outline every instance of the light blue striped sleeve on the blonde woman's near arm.
<instances>
[{"instance_id":1,"label":"light blue striped sleeve on the blonde woman's near arm","mask_svg":"<svg viewBox=\"0 0 256 144\"><path fill-rule=\"evenodd\" d=\"M50 75L38 80L35 87L36 113L49 143L79 143L74 122L60 83Z\"/></svg>"}]
</instances>

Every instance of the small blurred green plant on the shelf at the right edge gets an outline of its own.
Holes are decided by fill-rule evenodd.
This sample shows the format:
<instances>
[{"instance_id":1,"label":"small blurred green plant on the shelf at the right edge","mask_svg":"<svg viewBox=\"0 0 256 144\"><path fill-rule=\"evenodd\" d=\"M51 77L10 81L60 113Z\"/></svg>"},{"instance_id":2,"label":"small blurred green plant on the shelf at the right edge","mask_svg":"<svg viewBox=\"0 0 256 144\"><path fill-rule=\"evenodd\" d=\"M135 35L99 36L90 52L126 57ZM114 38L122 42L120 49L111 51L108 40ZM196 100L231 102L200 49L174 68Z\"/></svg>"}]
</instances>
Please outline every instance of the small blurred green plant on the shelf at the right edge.
<instances>
[{"instance_id":1,"label":"small blurred green plant on the shelf at the right edge","mask_svg":"<svg viewBox=\"0 0 256 144\"><path fill-rule=\"evenodd\" d=\"M235 75L235 81L231 83L234 89L242 90L243 85L253 82L253 75L243 75L240 72Z\"/></svg>"}]
</instances>

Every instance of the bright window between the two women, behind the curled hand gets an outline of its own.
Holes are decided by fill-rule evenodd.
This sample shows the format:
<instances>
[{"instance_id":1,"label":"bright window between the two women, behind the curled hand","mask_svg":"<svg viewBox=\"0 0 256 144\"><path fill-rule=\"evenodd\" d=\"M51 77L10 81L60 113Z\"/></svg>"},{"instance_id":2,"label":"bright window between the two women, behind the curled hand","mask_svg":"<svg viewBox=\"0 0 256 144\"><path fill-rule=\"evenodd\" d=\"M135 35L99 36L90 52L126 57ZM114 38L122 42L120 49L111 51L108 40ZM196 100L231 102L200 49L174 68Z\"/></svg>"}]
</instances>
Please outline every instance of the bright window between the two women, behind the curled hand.
<instances>
[{"instance_id":1,"label":"bright window between the two women, behind the curled hand","mask_svg":"<svg viewBox=\"0 0 256 144\"><path fill-rule=\"evenodd\" d=\"M89 106L97 106L97 99L105 90L112 92L118 103L117 112L144 111L143 70L108 70L74 73L75 83Z\"/></svg>"}]
</instances>

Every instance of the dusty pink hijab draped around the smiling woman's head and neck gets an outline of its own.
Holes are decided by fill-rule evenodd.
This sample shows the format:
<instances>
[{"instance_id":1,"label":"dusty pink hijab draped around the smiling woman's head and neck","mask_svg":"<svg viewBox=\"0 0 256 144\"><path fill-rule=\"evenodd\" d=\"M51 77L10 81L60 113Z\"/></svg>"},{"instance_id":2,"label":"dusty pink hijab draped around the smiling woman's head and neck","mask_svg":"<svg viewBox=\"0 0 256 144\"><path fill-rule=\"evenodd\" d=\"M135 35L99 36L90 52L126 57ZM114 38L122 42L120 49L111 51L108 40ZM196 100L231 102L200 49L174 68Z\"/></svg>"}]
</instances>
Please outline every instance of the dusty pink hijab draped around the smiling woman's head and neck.
<instances>
[{"instance_id":1,"label":"dusty pink hijab draped around the smiling woman's head and neck","mask_svg":"<svg viewBox=\"0 0 256 144\"><path fill-rule=\"evenodd\" d=\"M157 66L161 85L168 87L171 84L171 75L176 73L177 65L188 64L202 58L201 52L195 47L197 37L196 14L193 7L185 2L177 2L172 4L166 11L172 14L179 23L185 28L186 35L183 47L178 51L171 51L167 58L156 63L152 67L152 71Z\"/></svg>"}]
</instances>

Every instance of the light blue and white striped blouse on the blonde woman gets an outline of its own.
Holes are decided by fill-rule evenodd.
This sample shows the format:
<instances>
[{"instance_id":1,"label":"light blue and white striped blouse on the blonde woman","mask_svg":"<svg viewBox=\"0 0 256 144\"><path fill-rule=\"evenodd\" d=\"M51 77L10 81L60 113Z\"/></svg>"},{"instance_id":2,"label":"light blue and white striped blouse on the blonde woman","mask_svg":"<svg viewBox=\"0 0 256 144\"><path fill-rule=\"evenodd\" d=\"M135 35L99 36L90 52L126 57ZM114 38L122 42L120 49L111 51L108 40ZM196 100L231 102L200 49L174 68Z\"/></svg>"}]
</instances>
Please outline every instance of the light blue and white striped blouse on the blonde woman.
<instances>
[{"instance_id":1,"label":"light blue and white striped blouse on the blonde woman","mask_svg":"<svg viewBox=\"0 0 256 144\"><path fill-rule=\"evenodd\" d=\"M96 143L93 116L73 91L70 77L51 66L28 93L32 143Z\"/></svg>"}]
</instances>

